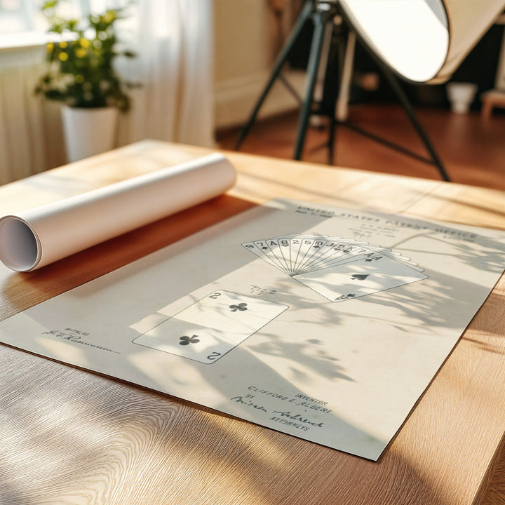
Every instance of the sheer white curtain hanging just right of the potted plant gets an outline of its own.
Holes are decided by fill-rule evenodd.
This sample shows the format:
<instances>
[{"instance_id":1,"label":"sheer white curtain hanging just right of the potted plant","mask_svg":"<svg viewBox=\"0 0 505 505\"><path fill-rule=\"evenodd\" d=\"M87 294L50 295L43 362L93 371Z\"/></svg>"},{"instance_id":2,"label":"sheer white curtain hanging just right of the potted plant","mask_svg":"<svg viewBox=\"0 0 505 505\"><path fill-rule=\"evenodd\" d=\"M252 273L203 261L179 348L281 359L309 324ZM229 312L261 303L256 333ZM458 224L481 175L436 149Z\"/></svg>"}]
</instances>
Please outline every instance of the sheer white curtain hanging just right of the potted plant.
<instances>
[{"instance_id":1,"label":"sheer white curtain hanging just right of the potted plant","mask_svg":"<svg viewBox=\"0 0 505 505\"><path fill-rule=\"evenodd\" d=\"M213 1L139 1L130 30L137 58L120 71L140 83L119 142L213 144ZM130 31L128 30L128 31Z\"/></svg>"}]
</instances>

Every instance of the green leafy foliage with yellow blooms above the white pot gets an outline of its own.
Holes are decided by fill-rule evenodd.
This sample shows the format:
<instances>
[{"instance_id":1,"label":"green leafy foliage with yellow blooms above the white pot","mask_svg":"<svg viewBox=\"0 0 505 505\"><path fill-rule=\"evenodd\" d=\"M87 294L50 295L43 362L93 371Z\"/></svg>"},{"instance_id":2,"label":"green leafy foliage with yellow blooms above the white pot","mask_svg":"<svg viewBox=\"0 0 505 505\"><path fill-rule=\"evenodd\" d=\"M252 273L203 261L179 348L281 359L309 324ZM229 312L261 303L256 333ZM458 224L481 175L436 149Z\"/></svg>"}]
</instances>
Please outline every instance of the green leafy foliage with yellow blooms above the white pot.
<instances>
[{"instance_id":1,"label":"green leafy foliage with yellow blooms above the white pot","mask_svg":"<svg viewBox=\"0 0 505 505\"><path fill-rule=\"evenodd\" d=\"M48 68L36 85L36 93L70 107L117 107L127 110L130 97L114 70L114 59L131 51L118 51L115 24L125 17L124 9L109 9L79 19L58 15L60 0L44 2L41 7L48 20L51 42L46 45Z\"/></svg>"}]
</instances>

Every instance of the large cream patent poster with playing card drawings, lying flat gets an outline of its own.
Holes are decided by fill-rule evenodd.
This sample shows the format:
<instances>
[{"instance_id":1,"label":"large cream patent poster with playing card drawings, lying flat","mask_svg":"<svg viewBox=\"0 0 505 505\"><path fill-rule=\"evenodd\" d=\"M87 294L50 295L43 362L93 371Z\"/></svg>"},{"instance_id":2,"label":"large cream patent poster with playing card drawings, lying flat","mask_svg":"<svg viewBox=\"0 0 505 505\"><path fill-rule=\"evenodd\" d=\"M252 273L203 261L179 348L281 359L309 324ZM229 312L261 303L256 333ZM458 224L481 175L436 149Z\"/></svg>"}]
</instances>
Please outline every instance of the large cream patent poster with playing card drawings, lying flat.
<instances>
[{"instance_id":1,"label":"large cream patent poster with playing card drawings, lying flat","mask_svg":"<svg viewBox=\"0 0 505 505\"><path fill-rule=\"evenodd\" d=\"M376 460L504 269L501 231L274 201L0 341Z\"/></svg>"}]
</instances>

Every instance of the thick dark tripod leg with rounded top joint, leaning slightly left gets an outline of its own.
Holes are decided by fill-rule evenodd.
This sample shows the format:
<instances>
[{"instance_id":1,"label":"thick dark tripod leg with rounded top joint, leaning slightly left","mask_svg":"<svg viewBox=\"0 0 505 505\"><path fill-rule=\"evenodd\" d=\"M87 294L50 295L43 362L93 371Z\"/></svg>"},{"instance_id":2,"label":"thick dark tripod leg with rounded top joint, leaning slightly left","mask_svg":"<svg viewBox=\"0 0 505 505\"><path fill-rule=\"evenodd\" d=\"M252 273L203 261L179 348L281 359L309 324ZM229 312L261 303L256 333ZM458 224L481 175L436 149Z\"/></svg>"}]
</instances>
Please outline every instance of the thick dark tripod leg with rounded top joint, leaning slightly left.
<instances>
[{"instance_id":1,"label":"thick dark tripod leg with rounded top joint, leaning slightly left","mask_svg":"<svg viewBox=\"0 0 505 505\"><path fill-rule=\"evenodd\" d=\"M312 102L314 97L314 88L318 76L319 60L321 59L321 48L325 34L325 25L331 20L331 11L316 11L314 13L314 35L312 36L311 52L309 55L309 63L307 64L307 90L305 92L305 100L300 112L298 122L298 133L295 144L295 160L302 159L302 152L309 124L309 116L311 113Z\"/></svg>"}]
</instances>

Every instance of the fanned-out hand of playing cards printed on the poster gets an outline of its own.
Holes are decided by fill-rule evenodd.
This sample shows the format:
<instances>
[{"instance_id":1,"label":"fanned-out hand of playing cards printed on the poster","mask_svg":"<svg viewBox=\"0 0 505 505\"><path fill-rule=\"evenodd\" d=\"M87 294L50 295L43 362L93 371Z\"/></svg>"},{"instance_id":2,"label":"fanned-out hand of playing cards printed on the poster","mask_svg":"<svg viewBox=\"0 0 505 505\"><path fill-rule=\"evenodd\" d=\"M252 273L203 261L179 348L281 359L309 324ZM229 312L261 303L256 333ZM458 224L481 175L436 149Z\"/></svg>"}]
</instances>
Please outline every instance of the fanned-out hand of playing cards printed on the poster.
<instances>
[{"instance_id":1,"label":"fanned-out hand of playing cards printed on the poster","mask_svg":"<svg viewBox=\"0 0 505 505\"><path fill-rule=\"evenodd\" d=\"M410 258L352 238L284 235L242 245L332 302L371 295L428 277Z\"/></svg>"}]
</instances>

